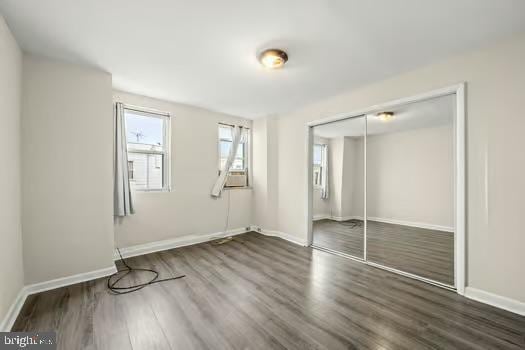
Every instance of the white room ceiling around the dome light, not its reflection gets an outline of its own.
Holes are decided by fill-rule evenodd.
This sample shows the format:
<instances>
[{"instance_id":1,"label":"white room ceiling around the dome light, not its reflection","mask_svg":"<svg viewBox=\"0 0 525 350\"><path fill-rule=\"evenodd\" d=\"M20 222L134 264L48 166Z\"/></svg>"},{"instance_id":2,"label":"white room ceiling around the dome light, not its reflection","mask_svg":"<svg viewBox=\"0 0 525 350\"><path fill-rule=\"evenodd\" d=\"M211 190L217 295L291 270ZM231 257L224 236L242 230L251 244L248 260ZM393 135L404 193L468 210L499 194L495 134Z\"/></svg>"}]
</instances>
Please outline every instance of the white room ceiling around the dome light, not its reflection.
<instances>
[{"instance_id":1,"label":"white room ceiling around the dome light, not its reflection","mask_svg":"<svg viewBox=\"0 0 525 350\"><path fill-rule=\"evenodd\" d=\"M256 118L525 31L523 0L0 0L28 52L114 86ZM288 51L282 70L256 60Z\"/></svg>"}]
</instances>

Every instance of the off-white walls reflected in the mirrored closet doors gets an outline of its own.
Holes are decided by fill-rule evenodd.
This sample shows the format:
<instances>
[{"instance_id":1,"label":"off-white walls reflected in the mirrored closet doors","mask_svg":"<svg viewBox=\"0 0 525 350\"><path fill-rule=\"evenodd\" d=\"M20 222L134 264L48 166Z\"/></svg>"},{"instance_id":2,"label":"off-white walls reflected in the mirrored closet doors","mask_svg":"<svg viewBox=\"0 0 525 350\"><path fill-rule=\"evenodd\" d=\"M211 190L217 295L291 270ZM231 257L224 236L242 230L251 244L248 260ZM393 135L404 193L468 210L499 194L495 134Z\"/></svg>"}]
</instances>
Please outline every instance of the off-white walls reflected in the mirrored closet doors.
<instances>
[{"instance_id":1,"label":"off-white walls reflected in the mirrored closet doors","mask_svg":"<svg viewBox=\"0 0 525 350\"><path fill-rule=\"evenodd\" d=\"M330 205L336 219L364 216L364 138L327 139ZM452 125L369 135L368 217L454 226ZM314 191L314 218L316 212Z\"/></svg>"}]
</instances>

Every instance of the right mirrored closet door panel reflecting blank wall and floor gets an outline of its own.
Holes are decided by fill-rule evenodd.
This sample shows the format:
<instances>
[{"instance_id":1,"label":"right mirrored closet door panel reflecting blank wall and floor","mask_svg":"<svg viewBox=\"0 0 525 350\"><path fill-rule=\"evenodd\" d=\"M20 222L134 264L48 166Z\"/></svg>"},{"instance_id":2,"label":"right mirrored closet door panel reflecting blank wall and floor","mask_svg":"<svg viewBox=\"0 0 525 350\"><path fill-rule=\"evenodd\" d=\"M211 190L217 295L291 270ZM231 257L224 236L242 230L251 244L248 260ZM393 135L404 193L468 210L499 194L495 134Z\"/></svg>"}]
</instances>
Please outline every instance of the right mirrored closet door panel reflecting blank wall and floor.
<instances>
[{"instance_id":1,"label":"right mirrored closet door panel reflecting blank wall and floor","mask_svg":"<svg viewBox=\"0 0 525 350\"><path fill-rule=\"evenodd\" d=\"M367 260L454 285L455 95L367 118Z\"/></svg>"}]
</instances>

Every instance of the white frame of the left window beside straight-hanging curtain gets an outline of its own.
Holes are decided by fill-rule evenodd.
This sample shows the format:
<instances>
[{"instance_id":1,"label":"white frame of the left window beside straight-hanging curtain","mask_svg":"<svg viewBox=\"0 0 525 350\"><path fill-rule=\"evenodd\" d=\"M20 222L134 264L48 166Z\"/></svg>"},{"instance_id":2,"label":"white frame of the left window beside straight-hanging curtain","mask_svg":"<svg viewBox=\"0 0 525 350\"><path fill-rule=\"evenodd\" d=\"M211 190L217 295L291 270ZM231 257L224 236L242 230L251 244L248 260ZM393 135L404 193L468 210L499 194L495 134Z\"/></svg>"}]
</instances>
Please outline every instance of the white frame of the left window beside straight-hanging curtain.
<instances>
[{"instance_id":1,"label":"white frame of the left window beside straight-hanging curtain","mask_svg":"<svg viewBox=\"0 0 525 350\"><path fill-rule=\"evenodd\" d=\"M127 135L126 135L126 150L129 153L135 153L135 154L146 154L146 155L162 155L163 159L163 168L162 168L162 188L133 188L137 192L170 192L171 191L171 115L169 112L163 112L151 108L146 107L139 107L129 104L123 104L124 107L124 120L126 121L126 128L127 128L127 119L126 119L126 111L130 111L132 113L137 113L140 115L144 115L148 118L157 118L162 120L162 128L163 128L163 150L162 151L156 151L156 150L130 150L129 144L127 142ZM126 130L127 133L127 130Z\"/></svg>"}]
</instances>

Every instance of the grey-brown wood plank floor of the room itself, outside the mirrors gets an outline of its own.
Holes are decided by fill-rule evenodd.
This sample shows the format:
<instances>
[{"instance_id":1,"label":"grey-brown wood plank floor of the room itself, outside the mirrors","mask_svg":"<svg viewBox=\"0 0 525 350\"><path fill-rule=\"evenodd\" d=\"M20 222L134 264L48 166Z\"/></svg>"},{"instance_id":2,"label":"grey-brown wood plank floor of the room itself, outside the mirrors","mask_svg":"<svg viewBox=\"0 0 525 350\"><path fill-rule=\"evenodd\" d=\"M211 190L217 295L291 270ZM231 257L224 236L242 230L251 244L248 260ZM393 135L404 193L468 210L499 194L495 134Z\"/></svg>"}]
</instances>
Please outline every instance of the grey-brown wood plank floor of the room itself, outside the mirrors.
<instances>
[{"instance_id":1,"label":"grey-brown wood plank floor of the room itself, outside the mirrors","mask_svg":"<svg viewBox=\"0 0 525 350\"><path fill-rule=\"evenodd\" d=\"M118 296L106 279L32 295L13 330L56 330L64 350L525 347L525 317L256 233L129 263L187 277Z\"/></svg>"}]
</instances>

